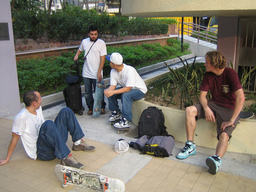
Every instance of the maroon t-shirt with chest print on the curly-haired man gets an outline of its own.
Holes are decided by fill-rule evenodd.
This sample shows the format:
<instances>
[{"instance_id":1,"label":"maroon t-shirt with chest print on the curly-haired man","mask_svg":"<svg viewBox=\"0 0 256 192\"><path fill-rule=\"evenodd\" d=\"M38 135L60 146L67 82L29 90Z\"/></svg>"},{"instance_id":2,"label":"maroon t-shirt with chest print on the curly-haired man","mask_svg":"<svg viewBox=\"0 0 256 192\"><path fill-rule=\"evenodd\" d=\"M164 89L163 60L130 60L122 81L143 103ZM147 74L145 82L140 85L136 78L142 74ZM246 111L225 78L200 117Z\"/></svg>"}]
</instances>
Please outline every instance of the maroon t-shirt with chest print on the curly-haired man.
<instances>
[{"instance_id":1,"label":"maroon t-shirt with chest print on the curly-haired man","mask_svg":"<svg viewBox=\"0 0 256 192\"><path fill-rule=\"evenodd\" d=\"M229 109L235 108L236 92L242 89L238 75L234 69L224 68L220 76L212 72L205 72L200 91L210 90L212 101Z\"/></svg>"}]
</instances>

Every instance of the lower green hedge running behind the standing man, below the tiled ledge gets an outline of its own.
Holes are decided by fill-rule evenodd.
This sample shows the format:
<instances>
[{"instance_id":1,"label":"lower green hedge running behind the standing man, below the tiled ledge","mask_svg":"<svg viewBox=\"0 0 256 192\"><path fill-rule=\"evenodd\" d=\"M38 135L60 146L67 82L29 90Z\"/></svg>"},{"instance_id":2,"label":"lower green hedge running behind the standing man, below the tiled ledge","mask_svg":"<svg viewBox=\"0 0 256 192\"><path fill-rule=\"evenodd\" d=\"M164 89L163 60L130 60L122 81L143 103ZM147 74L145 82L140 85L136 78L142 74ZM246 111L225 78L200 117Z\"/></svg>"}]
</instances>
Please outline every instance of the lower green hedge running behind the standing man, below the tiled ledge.
<instances>
[{"instance_id":1,"label":"lower green hedge running behind the standing man, below the tiled ledge","mask_svg":"<svg viewBox=\"0 0 256 192\"><path fill-rule=\"evenodd\" d=\"M75 50L76 52L76 50ZM124 58L124 63L133 67L151 64L159 59L167 60L170 56L180 53L180 49L165 45L142 44L137 46L107 47L108 54L119 52ZM80 72L82 73L83 60L79 55ZM29 90L38 90L40 92L50 92L59 85L65 85L65 77L68 76L72 65L74 64L75 53L63 53L59 57L49 57L44 59L26 59L17 61L17 72L20 94ZM141 66L142 67L142 66ZM110 74L109 61L105 61L103 68L104 78ZM73 70L72 75L76 71Z\"/></svg>"}]
</instances>

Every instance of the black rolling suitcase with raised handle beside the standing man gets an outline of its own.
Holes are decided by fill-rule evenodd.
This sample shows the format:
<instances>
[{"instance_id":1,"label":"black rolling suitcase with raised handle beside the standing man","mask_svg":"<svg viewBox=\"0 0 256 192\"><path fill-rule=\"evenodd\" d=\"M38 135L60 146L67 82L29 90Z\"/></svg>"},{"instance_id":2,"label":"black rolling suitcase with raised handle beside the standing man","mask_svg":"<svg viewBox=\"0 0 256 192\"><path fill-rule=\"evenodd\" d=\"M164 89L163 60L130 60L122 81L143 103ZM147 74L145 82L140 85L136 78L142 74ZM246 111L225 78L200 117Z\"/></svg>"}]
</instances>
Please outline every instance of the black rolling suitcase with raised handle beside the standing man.
<instances>
[{"instance_id":1,"label":"black rolling suitcase with raised handle beside the standing man","mask_svg":"<svg viewBox=\"0 0 256 192\"><path fill-rule=\"evenodd\" d=\"M65 98L67 107L70 108L72 111L74 111L74 113L78 113L78 115L83 115L84 107L82 103L81 79L80 79L78 60L75 61L74 65L76 65L76 74L77 74L78 80L76 83L69 84L68 87L63 90L63 95ZM69 73L69 75L70 74L71 72Z\"/></svg>"}]
</instances>

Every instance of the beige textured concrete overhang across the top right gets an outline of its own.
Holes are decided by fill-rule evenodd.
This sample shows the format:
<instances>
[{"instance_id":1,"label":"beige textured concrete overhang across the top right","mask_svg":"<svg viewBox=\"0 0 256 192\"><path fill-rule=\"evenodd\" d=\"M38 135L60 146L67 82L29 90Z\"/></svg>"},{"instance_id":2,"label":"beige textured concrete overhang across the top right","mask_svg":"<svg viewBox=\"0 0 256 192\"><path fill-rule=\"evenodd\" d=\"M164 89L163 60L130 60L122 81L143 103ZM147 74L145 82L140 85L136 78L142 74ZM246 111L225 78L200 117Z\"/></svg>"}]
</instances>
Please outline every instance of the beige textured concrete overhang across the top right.
<instances>
[{"instance_id":1,"label":"beige textured concrete overhang across the top right","mask_svg":"<svg viewBox=\"0 0 256 192\"><path fill-rule=\"evenodd\" d=\"M132 17L246 16L255 12L255 0L122 0L122 15Z\"/></svg>"}]
</instances>

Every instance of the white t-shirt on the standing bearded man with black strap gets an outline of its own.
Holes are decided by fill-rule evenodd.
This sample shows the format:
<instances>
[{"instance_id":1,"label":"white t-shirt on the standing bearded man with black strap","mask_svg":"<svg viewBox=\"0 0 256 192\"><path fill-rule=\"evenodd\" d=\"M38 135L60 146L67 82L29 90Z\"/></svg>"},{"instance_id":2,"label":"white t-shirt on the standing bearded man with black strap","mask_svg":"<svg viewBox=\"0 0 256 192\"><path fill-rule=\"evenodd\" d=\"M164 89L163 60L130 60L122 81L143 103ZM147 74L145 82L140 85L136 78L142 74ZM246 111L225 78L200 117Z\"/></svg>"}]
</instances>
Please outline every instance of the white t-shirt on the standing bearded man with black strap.
<instances>
[{"instance_id":1,"label":"white t-shirt on the standing bearded man with black strap","mask_svg":"<svg viewBox=\"0 0 256 192\"><path fill-rule=\"evenodd\" d=\"M93 41L90 41L90 38L86 38L82 41L79 50L84 51L84 56L87 54L91 48ZM83 77L97 79L97 72L100 67L100 56L107 55L106 44L103 40L98 39L92 46L86 60L84 61L83 67ZM103 71L101 70L101 75L103 76Z\"/></svg>"}]
</instances>

